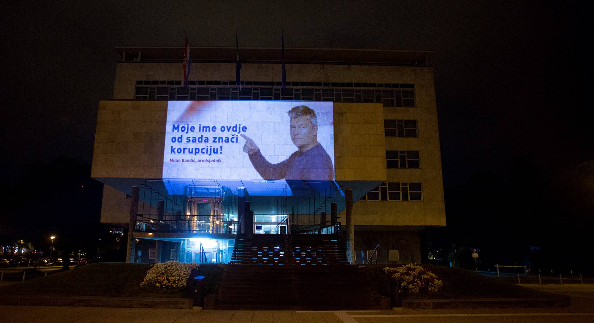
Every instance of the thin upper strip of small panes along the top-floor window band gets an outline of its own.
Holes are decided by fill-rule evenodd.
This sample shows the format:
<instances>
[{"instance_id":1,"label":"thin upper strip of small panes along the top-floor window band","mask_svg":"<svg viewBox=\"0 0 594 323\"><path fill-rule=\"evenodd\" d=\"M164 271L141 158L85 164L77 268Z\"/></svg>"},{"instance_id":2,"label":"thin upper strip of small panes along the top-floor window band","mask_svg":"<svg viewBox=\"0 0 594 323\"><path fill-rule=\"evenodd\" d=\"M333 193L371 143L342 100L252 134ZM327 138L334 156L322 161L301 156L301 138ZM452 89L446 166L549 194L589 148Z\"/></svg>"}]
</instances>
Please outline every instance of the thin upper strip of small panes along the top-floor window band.
<instances>
[{"instance_id":1,"label":"thin upper strip of small panes along the top-floor window band","mask_svg":"<svg viewBox=\"0 0 594 323\"><path fill-rule=\"evenodd\" d=\"M237 86L236 81L188 81L189 86L228 85ZM136 85L181 85L182 81L136 81ZM241 86L282 86L282 82L241 81ZM414 89L415 84L402 83L343 83L343 82L286 82L286 86L311 87L388 87L394 89Z\"/></svg>"}]
</instances>

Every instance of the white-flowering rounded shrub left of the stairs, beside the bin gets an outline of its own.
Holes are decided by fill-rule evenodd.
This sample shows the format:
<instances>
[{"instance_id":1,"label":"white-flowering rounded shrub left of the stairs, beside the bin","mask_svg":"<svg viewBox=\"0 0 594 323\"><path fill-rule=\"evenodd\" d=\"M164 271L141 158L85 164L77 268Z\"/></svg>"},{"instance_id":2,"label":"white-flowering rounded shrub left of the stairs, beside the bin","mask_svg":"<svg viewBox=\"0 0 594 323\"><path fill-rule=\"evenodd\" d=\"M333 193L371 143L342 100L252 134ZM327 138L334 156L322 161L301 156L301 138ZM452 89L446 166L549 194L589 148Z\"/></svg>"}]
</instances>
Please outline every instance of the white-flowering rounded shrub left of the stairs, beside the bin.
<instances>
[{"instance_id":1,"label":"white-flowering rounded shrub left of the stairs, beside the bin","mask_svg":"<svg viewBox=\"0 0 594 323\"><path fill-rule=\"evenodd\" d=\"M171 287L186 287L189 275L193 269L198 269L200 265L195 262L186 264L177 261L159 262L154 264L140 286L155 286L169 289Z\"/></svg>"}]
</instances>

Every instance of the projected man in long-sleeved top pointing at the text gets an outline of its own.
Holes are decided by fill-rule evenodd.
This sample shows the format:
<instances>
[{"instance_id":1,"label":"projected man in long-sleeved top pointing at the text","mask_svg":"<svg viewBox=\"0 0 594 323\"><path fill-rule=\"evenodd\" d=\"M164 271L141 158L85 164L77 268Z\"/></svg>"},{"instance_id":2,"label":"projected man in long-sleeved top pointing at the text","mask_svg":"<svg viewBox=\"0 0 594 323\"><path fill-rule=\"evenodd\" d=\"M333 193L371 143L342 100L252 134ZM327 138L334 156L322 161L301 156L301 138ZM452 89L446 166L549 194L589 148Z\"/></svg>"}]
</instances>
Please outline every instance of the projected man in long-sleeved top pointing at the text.
<instances>
[{"instance_id":1,"label":"projected man in long-sleeved top pointing at the text","mask_svg":"<svg viewBox=\"0 0 594 323\"><path fill-rule=\"evenodd\" d=\"M315 111L308 106L299 105L290 109L288 114L289 133L298 150L285 161L271 164L264 158L254 140L241 134L245 139L244 152L248 153L249 161L264 180L333 180L332 160L318 143L318 118Z\"/></svg>"}]
</instances>

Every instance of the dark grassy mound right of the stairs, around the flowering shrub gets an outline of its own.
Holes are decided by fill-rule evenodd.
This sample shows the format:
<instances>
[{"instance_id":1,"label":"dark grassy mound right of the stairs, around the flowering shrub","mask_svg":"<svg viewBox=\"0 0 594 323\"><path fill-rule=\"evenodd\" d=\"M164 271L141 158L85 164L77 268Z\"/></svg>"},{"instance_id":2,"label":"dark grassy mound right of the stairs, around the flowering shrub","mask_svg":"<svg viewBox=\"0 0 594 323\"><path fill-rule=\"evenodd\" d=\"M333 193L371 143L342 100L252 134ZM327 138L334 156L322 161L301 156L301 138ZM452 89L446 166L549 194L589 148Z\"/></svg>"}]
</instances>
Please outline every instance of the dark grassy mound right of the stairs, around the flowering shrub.
<instances>
[{"instance_id":1,"label":"dark grassy mound right of the stairs, around the flowering shrub","mask_svg":"<svg viewBox=\"0 0 594 323\"><path fill-rule=\"evenodd\" d=\"M496 278L485 277L460 268L423 265L443 281L436 293L408 293L407 299L484 299L484 298L529 298L552 297L556 294L518 286ZM369 286L378 294L390 296L390 281L383 271L384 266L367 266Z\"/></svg>"}]
</instances>

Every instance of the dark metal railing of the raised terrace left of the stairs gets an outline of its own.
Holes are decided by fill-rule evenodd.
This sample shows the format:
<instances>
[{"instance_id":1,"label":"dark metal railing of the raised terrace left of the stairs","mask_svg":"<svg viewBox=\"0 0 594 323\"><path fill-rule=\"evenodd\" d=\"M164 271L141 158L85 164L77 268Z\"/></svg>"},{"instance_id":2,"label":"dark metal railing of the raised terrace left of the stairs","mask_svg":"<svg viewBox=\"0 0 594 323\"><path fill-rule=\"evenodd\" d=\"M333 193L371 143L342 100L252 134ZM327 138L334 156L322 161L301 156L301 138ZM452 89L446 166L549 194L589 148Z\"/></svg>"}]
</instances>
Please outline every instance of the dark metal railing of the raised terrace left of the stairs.
<instances>
[{"instance_id":1,"label":"dark metal railing of the raised terrace left of the stairs","mask_svg":"<svg viewBox=\"0 0 594 323\"><path fill-rule=\"evenodd\" d=\"M136 215L136 231L159 233L237 233L236 215Z\"/></svg>"}]
</instances>

